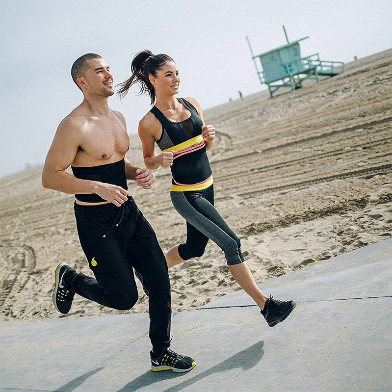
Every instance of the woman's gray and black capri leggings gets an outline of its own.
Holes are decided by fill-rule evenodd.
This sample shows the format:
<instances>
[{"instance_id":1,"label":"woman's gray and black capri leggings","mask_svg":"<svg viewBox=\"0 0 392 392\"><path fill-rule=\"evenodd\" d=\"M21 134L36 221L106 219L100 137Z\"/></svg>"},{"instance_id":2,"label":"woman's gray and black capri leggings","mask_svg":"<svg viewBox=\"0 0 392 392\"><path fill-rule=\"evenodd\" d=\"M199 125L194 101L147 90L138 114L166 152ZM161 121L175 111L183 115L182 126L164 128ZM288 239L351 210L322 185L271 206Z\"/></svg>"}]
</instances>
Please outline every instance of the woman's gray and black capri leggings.
<instances>
[{"instance_id":1,"label":"woman's gray and black capri leggings","mask_svg":"<svg viewBox=\"0 0 392 392\"><path fill-rule=\"evenodd\" d=\"M178 249L183 260L203 256L210 238L223 250L228 265L244 261L239 238L214 207L213 184L197 191L171 191L170 197L186 220L186 242Z\"/></svg>"}]
</instances>

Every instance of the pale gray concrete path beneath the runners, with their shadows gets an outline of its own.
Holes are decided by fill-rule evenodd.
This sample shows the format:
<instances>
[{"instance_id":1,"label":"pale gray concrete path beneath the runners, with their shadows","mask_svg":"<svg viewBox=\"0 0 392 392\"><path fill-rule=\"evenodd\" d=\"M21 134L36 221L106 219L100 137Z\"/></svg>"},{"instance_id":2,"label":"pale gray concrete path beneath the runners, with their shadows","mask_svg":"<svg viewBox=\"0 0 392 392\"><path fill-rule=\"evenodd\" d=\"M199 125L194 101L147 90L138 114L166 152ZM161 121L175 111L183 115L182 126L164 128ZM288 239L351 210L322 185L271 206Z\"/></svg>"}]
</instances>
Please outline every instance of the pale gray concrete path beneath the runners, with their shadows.
<instances>
[{"instance_id":1,"label":"pale gray concrete path beneath the runners, with their shadows","mask_svg":"<svg viewBox=\"0 0 392 392\"><path fill-rule=\"evenodd\" d=\"M150 370L148 314L1 322L0 391L392 391L391 266L387 239L264 282L297 302L273 328L241 291L174 314L189 373Z\"/></svg>"}]
</instances>

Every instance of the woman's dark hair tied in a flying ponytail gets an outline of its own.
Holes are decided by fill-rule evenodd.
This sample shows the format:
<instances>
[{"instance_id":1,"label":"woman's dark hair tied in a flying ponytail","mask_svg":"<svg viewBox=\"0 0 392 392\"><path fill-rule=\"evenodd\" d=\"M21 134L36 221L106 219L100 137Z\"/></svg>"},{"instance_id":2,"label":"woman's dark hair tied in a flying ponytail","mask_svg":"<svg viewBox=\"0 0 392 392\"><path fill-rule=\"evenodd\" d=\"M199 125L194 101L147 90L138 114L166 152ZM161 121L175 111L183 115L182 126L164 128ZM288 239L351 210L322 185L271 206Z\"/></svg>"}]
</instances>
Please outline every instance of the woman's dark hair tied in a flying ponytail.
<instances>
[{"instance_id":1,"label":"woman's dark hair tied in a flying ponytail","mask_svg":"<svg viewBox=\"0 0 392 392\"><path fill-rule=\"evenodd\" d=\"M131 62L131 77L117 85L117 87L120 87L117 90L120 99L127 95L132 84L139 83L139 94L148 94L151 99L151 105L154 105L156 99L155 89L148 77L150 75L157 76L157 71L167 61L173 61L167 54L154 55L153 52L147 50L137 53Z\"/></svg>"}]
</instances>

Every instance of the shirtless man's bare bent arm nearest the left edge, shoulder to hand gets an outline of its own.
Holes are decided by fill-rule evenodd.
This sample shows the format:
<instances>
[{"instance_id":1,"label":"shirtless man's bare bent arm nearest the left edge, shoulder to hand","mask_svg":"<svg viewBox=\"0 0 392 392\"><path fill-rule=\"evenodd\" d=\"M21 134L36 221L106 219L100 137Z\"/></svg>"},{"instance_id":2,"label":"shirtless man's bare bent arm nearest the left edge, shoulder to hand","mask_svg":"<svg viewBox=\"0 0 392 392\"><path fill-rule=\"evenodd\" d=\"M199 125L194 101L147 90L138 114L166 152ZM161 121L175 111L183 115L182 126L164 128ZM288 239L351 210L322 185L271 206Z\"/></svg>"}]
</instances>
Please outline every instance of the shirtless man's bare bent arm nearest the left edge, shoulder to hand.
<instances>
[{"instance_id":1,"label":"shirtless man's bare bent arm nearest the left edge, shoulder to hand","mask_svg":"<svg viewBox=\"0 0 392 392\"><path fill-rule=\"evenodd\" d=\"M44 188L71 194L96 193L119 207L127 200L128 192L121 186L98 181L81 180L66 173L81 145L81 131L72 118L64 119L54 136L42 171Z\"/></svg>"}]
</instances>

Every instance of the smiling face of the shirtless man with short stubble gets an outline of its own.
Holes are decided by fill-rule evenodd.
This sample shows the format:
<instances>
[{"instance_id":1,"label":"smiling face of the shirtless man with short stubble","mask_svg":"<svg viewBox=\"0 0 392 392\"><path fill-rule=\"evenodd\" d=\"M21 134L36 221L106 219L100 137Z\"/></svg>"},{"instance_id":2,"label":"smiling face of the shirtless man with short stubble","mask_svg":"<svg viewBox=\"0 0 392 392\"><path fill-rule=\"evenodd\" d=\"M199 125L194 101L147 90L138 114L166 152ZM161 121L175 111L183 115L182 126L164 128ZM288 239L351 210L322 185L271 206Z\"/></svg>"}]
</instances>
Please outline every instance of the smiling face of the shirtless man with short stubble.
<instances>
[{"instance_id":1,"label":"smiling face of the shirtless man with short stubble","mask_svg":"<svg viewBox=\"0 0 392 392\"><path fill-rule=\"evenodd\" d=\"M86 71L84 88L91 94L101 97L110 97L114 94L113 76L109 71L109 66L103 58L93 58L87 60L89 68Z\"/></svg>"}]
</instances>

